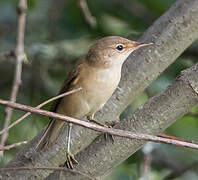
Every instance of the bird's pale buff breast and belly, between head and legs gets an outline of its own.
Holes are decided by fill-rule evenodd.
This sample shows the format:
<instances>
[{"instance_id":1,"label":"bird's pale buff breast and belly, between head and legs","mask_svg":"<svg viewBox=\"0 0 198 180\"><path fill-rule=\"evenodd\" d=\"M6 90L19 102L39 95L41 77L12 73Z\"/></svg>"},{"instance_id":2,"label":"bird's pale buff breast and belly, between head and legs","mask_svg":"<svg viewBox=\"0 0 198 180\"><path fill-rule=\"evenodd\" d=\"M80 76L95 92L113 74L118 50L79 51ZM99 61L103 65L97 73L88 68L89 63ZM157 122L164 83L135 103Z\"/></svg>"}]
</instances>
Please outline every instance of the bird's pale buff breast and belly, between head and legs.
<instances>
[{"instance_id":1,"label":"bird's pale buff breast and belly, between head and legs","mask_svg":"<svg viewBox=\"0 0 198 180\"><path fill-rule=\"evenodd\" d=\"M82 118L102 108L115 91L121 70L84 68L74 80L72 89L82 90L65 96L58 106L58 113Z\"/></svg>"}]
</instances>

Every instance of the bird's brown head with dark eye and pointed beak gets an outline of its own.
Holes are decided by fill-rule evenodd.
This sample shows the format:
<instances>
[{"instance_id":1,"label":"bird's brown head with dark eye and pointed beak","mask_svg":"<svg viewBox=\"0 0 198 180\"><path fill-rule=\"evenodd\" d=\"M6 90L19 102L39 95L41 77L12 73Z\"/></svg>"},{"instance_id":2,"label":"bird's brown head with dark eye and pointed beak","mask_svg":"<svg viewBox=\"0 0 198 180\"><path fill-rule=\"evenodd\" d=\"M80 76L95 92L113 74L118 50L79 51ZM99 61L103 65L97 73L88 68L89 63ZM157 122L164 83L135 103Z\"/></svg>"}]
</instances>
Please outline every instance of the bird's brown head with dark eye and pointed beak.
<instances>
[{"instance_id":1,"label":"bird's brown head with dark eye and pointed beak","mask_svg":"<svg viewBox=\"0 0 198 180\"><path fill-rule=\"evenodd\" d=\"M100 67L122 66L130 53L152 43L138 43L119 36L108 36L93 44L86 56L88 63Z\"/></svg>"}]
</instances>

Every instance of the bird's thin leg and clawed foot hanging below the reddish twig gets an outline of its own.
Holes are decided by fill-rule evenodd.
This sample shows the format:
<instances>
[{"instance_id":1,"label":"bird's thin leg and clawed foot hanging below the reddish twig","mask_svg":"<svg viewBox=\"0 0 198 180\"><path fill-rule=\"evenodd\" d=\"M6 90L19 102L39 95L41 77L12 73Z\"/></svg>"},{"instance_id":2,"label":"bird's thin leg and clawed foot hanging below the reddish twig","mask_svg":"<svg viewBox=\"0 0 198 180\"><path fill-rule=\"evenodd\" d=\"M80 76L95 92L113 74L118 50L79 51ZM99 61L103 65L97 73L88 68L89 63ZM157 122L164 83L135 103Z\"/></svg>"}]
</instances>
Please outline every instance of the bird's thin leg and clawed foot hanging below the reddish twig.
<instances>
[{"instance_id":1,"label":"bird's thin leg and clawed foot hanging below the reddish twig","mask_svg":"<svg viewBox=\"0 0 198 180\"><path fill-rule=\"evenodd\" d=\"M78 164L78 161L75 159L74 155L70 152L70 144L71 144L71 130L72 130L72 124L68 124L68 134L67 134L67 151L66 151L66 166L69 169L73 169L73 162Z\"/></svg>"}]
</instances>

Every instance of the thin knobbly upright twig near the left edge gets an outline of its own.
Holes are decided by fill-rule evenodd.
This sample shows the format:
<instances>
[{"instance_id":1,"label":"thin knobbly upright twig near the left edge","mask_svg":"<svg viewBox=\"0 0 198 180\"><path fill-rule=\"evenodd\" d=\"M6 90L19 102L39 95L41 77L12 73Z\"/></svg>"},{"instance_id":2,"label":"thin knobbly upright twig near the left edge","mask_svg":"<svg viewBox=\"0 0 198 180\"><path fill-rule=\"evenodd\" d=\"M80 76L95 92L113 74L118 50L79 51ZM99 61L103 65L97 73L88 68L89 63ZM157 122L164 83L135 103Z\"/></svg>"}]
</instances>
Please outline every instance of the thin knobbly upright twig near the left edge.
<instances>
[{"instance_id":1,"label":"thin knobbly upright twig near the left edge","mask_svg":"<svg viewBox=\"0 0 198 180\"><path fill-rule=\"evenodd\" d=\"M16 66L14 73L14 81L12 86L12 92L10 96L10 101L15 102L18 94L18 89L21 84L21 73L22 73L22 61L24 58L24 34L25 34L25 19L26 19L26 0L19 0L17 12L18 12L18 27L17 27L17 37L16 37L16 48L15 48L15 58ZM12 117L12 108L5 108L5 121L4 128L8 127L10 124L10 119ZM3 147L7 139L8 133L4 132L1 136L0 147Z\"/></svg>"}]
</instances>

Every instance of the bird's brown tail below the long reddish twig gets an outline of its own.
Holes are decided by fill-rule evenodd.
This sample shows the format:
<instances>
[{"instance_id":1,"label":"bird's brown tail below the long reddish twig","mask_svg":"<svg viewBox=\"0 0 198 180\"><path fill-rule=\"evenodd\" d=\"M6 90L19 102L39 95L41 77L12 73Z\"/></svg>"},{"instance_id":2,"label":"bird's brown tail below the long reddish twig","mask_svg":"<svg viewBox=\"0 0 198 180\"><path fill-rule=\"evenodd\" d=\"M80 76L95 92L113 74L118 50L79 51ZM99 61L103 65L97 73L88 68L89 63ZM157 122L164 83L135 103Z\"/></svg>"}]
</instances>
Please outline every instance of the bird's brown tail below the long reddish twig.
<instances>
[{"instance_id":1,"label":"bird's brown tail below the long reddish twig","mask_svg":"<svg viewBox=\"0 0 198 180\"><path fill-rule=\"evenodd\" d=\"M41 139L36 145L36 151L42 151L43 149L52 145L58 138L61 129L64 125L63 121L51 120L43 132Z\"/></svg>"}]
</instances>

